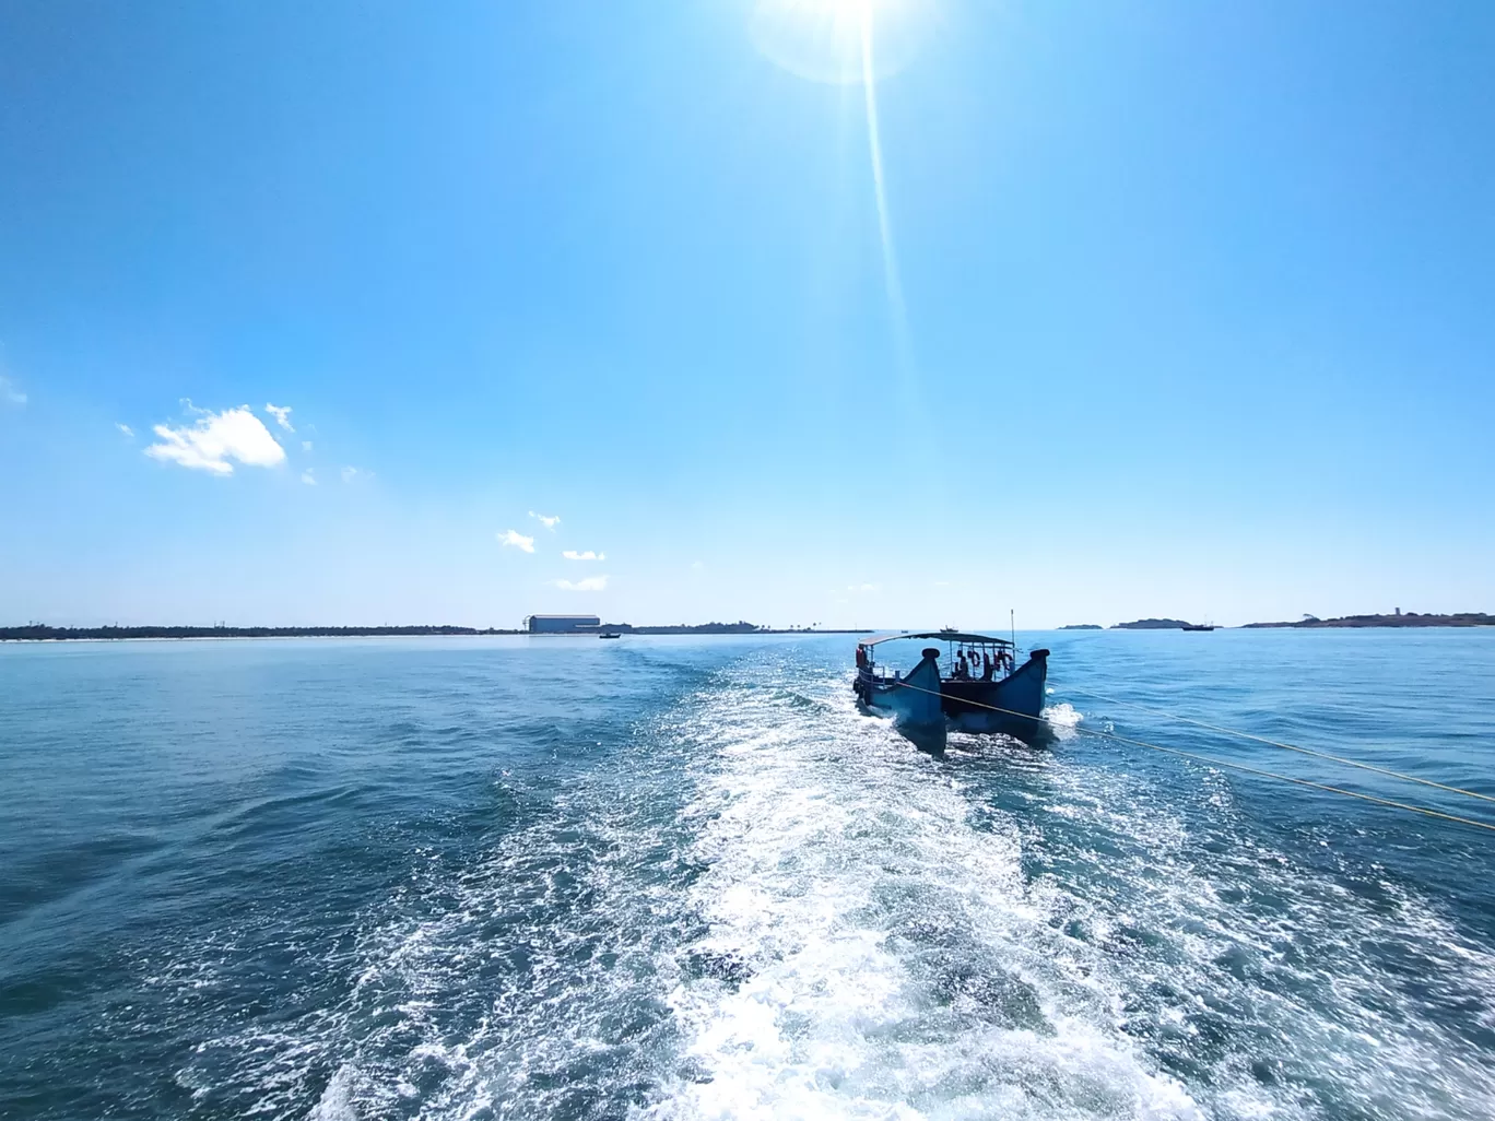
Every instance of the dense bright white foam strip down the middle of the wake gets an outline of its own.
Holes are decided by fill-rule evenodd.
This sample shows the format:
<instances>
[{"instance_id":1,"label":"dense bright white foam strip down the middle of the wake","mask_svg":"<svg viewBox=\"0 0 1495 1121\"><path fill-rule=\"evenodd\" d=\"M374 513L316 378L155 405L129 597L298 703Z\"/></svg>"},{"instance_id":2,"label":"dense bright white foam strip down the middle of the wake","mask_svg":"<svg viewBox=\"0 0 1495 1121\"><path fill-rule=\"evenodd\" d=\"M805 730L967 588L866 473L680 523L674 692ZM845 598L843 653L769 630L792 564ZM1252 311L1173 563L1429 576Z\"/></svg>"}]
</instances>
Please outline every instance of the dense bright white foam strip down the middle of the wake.
<instances>
[{"instance_id":1,"label":"dense bright white foam strip down the middle of the wake","mask_svg":"<svg viewBox=\"0 0 1495 1121\"><path fill-rule=\"evenodd\" d=\"M689 954L742 979L671 994L707 1078L659 1117L1197 1117L1115 1031L1112 989L1054 954L1015 831L973 830L884 728L837 752L804 726L764 734L783 728L768 704L703 717L721 753L692 810L710 870Z\"/></svg>"}]
</instances>

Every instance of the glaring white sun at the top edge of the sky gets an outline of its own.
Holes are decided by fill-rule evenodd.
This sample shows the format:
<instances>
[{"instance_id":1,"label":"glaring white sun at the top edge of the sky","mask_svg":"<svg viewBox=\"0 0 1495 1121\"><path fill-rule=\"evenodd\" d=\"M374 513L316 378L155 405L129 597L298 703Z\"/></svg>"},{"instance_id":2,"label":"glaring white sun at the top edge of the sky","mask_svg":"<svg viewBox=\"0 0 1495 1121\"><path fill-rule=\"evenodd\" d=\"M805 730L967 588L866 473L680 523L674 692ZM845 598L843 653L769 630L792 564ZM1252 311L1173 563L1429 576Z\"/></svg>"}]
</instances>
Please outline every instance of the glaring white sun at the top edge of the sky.
<instances>
[{"instance_id":1,"label":"glaring white sun at the top edge of the sky","mask_svg":"<svg viewBox=\"0 0 1495 1121\"><path fill-rule=\"evenodd\" d=\"M783 69L816 82L901 70L933 24L934 0L758 0L752 36Z\"/></svg>"}]
</instances>

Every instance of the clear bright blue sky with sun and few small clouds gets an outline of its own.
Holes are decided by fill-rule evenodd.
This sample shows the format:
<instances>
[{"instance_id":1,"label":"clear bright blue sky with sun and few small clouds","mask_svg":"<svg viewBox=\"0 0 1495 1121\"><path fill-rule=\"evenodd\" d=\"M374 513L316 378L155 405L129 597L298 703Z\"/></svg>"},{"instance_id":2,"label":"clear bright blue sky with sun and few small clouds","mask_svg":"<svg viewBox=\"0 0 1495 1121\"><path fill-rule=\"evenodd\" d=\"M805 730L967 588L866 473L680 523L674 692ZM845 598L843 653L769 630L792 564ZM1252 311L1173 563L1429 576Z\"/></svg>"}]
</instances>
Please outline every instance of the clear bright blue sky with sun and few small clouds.
<instances>
[{"instance_id":1,"label":"clear bright blue sky with sun and few small clouds","mask_svg":"<svg viewBox=\"0 0 1495 1121\"><path fill-rule=\"evenodd\" d=\"M10 0L0 623L1495 611L1495 4Z\"/></svg>"}]
</instances>

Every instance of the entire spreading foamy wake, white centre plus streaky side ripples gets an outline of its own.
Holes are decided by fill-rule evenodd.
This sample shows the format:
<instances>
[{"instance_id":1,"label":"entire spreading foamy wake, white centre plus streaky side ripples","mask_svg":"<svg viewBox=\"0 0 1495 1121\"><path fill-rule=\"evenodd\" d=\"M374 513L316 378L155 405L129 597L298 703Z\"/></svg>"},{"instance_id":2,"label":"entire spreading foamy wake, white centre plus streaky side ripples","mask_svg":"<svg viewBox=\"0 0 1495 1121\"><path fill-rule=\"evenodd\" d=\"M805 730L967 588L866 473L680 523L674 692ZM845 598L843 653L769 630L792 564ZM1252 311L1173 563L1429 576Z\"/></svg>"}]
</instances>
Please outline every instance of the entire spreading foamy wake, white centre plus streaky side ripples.
<instances>
[{"instance_id":1,"label":"entire spreading foamy wake, white centre plus streaky side ripples","mask_svg":"<svg viewBox=\"0 0 1495 1121\"><path fill-rule=\"evenodd\" d=\"M1495 960L1428 898L1067 705L1052 749L940 759L845 685L795 647L686 685L523 828L416 853L339 1000L181 1084L338 1121L1486 1117Z\"/></svg>"}]
</instances>

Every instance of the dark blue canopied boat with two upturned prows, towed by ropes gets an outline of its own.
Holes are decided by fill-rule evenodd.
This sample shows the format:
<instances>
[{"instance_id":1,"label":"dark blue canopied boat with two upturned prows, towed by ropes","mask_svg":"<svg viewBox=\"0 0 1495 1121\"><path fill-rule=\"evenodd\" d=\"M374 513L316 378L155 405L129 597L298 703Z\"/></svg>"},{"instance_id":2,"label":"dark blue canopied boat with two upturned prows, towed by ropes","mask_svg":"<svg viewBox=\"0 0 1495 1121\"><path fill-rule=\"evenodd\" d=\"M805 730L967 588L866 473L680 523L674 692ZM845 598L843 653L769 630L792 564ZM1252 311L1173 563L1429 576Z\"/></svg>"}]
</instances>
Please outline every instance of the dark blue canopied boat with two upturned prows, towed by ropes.
<instances>
[{"instance_id":1,"label":"dark blue canopied boat with two upturned prows, towed by ropes","mask_svg":"<svg viewBox=\"0 0 1495 1121\"><path fill-rule=\"evenodd\" d=\"M934 641L903 673L879 662L881 647L896 641ZM852 691L870 711L912 728L1006 732L1032 737L1041 726L1048 650L1030 650L1017 665L1006 638L960 631L885 634L857 644Z\"/></svg>"}]
</instances>

